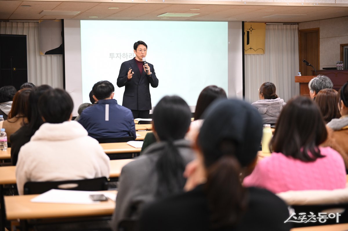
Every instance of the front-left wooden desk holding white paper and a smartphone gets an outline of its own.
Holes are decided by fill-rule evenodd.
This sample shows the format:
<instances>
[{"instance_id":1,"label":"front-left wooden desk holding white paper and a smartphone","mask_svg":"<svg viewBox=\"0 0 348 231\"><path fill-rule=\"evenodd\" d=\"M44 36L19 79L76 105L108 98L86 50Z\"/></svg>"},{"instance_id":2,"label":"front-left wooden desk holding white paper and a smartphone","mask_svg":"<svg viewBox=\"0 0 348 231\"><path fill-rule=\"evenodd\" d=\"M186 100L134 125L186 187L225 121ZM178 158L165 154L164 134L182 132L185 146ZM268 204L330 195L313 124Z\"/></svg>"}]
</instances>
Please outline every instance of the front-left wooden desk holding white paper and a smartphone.
<instances>
[{"instance_id":1,"label":"front-left wooden desk holding white paper and a smartphone","mask_svg":"<svg viewBox=\"0 0 348 231\"><path fill-rule=\"evenodd\" d=\"M114 192L116 191L108 191ZM82 216L111 215L115 209L115 202L107 200L98 204L55 204L33 203L30 200L37 195L5 196L6 218L16 219L47 219Z\"/></svg>"}]
</instances>

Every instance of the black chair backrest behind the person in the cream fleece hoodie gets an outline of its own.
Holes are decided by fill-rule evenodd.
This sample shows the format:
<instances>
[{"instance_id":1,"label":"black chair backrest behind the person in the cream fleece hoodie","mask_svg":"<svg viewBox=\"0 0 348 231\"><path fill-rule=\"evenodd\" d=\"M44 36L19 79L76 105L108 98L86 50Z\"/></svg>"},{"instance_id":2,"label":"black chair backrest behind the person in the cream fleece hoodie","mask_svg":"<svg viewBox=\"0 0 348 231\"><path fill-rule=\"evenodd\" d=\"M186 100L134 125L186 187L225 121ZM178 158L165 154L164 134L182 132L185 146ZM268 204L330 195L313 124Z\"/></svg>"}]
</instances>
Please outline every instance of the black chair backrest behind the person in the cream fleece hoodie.
<instances>
[{"instance_id":1,"label":"black chair backrest behind the person in the cream fleece hoodie","mask_svg":"<svg viewBox=\"0 0 348 231\"><path fill-rule=\"evenodd\" d=\"M102 191L108 190L108 179L106 177L65 180L65 181L44 181L26 182L24 184L24 194L41 194L51 189L81 190L81 191Z\"/></svg>"}]
</instances>

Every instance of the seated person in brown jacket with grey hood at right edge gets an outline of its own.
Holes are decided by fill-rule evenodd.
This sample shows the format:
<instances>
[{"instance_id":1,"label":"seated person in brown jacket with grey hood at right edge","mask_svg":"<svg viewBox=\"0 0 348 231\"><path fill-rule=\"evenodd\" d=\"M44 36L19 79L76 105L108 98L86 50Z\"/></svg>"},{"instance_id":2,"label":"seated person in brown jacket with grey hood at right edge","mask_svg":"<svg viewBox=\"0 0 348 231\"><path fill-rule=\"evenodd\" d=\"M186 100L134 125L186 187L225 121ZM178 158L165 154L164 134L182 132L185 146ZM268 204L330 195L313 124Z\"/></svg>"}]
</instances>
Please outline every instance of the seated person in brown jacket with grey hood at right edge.
<instances>
[{"instance_id":1,"label":"seated person in brown jacket with grey hood at right edge","mask_svg":"<svg viewBox=\"0 0 348 231\"><path fill-rule=\"evenodd\" d=\"M343 157L348 169L348 83L341 87L339 95L338 108L341 118L332 119L327 123L329 135L323 145L336 149Z\"/></svg>"}]
</instances>

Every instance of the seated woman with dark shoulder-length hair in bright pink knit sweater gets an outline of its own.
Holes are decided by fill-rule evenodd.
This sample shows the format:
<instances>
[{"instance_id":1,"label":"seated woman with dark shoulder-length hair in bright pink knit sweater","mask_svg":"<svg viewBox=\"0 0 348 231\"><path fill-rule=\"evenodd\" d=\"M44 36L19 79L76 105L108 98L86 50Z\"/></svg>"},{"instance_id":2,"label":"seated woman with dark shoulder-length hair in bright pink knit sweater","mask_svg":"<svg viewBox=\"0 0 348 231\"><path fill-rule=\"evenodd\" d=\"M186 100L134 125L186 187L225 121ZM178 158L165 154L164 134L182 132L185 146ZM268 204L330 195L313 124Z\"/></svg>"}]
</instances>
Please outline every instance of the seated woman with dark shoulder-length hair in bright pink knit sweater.
<instances>
[{"instance_id":1,"label":"seated woman with dark shoulder-length hair in bright pink knit sweater","mask_svg":"<svg viewBox=\"0 0 348 231\"><path fill-rule=\"evenodd\" d=\"M258 162L244 185L273 193L345 188L341 155L330 147L319 147L326 137L318 106L307 97L293 98L280 113L270 142L273 153Z\"/></svg>"}]
</instances>

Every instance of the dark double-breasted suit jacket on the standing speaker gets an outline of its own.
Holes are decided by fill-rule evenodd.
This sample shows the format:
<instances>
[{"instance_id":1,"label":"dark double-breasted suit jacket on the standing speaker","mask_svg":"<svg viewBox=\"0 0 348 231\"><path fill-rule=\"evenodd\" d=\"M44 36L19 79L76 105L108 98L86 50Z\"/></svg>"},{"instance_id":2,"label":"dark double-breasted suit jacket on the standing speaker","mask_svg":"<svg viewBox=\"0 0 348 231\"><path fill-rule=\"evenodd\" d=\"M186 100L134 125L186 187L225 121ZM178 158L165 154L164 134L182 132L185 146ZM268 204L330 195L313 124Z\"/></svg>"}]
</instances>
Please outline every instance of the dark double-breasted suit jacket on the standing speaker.
<instances>
[{"instance_id":1,"label":"dark double-breasted suit jacket on the standing speaker","mask_svg":"<svg viewBox=\"0 0 348 231\"><path fill-rule=\"evenodd\" d=\"M152 109L150 84L152 87L157 87L158 79L156 77L155 69L153 69L153 65L150 63L148 64L150 71L152 72L151 77L149 77L144 70L142 73L139 72L135 58L121 64L120 73L117 78L117 86L125 86L122 106L125 106L130 110L145 111ZM129 68L132 68L132 72L134 72L133 77L130 80L127 78Z\"/></svg>"}]
</instances>

